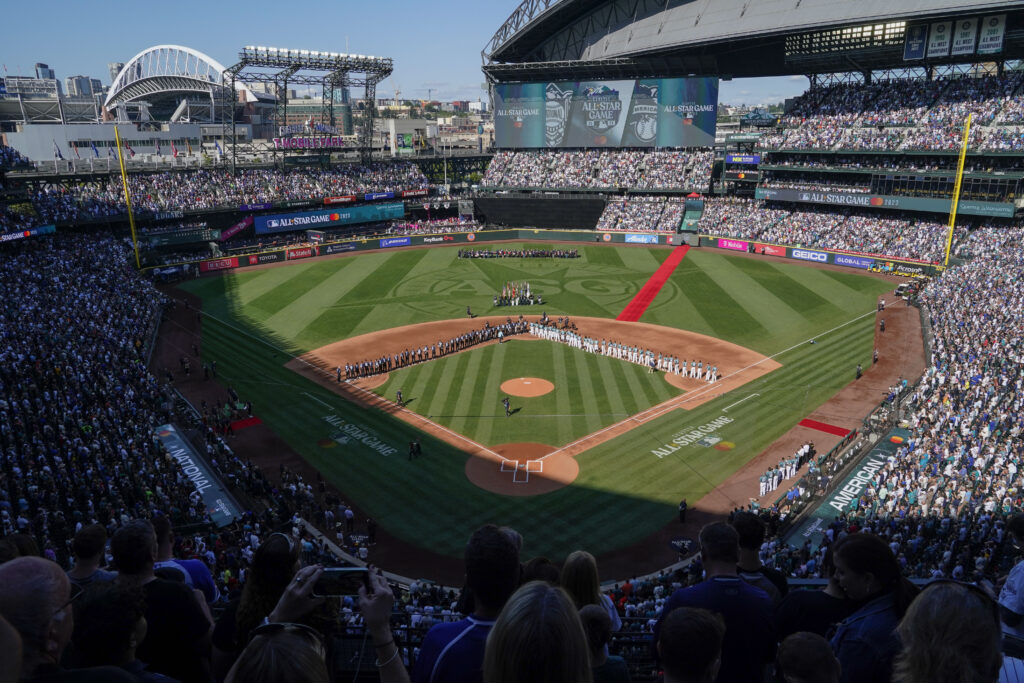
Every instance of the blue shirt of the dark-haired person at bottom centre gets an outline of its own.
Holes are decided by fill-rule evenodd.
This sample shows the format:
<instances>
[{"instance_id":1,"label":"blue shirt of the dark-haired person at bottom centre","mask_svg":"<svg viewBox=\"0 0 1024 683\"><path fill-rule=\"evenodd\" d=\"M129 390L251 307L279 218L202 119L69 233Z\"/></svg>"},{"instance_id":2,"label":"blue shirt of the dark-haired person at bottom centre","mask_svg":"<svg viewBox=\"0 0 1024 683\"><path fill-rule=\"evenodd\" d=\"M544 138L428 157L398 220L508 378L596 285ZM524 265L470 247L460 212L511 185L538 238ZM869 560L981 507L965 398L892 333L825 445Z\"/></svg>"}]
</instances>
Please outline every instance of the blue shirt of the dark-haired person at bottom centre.
<instances>
[{"instance_id":1,"label":"blue shirt of the dark-haired person at bottom centre","mask_svg":"<svg viewBox=\"0 0 1024 683\"><path fill-rule=\"evenodd\" d=\"M467 616L427 632L413 683L482 683L483 648L495 623Z\"/></svg>"}]
</instances>

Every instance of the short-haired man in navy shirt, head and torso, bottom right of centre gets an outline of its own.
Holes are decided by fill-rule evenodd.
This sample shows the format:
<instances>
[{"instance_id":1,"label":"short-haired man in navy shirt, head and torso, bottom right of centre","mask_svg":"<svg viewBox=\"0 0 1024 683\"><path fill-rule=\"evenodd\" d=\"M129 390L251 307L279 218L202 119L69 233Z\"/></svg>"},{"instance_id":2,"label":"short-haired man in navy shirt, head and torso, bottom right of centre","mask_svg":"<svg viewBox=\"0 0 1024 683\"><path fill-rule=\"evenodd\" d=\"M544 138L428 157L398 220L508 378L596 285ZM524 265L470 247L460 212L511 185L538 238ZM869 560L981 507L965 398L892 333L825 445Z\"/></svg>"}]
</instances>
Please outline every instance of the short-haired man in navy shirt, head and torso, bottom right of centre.
<instances>
[{"instance_id":1,"label":"short-haired man in navy shirt, head and torso, bottom right of centre","mask_svg":"<svg viewBox=\"0 0 1024 683\"><path fill-rule=\"evenodd\" d=\"M725 620L719 683L759 681L775 657L775 625L771 598L736 572L739 537L726 522L712 522L700 529L700 562L705 581L681 588L666 601L654 625L654 642L662 624L678 607L700 607Z\"/></svg>"}]
</instances>

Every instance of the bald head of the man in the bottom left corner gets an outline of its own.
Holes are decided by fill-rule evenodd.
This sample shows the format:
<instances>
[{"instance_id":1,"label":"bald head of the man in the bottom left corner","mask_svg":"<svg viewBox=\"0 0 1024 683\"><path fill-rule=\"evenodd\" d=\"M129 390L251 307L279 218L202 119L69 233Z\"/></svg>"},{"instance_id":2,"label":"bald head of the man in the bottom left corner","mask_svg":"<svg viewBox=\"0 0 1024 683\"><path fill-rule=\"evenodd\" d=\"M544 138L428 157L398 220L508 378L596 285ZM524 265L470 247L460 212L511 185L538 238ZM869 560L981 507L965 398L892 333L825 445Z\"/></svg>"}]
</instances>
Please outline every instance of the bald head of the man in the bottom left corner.
<instances>
[{"instance_id":1,"label":"bald head of the man in the bottom left corner","mask_svg":"<svg viewBox=\"0 0 1024 683\"><path fill-rule=\"evenodd\" d=\"M17 557L0 564L0 615L22 637L27 664L49 655L58 659L74 627L71 582L60 567L42 557Z\"/></svg>"}]
</instances>

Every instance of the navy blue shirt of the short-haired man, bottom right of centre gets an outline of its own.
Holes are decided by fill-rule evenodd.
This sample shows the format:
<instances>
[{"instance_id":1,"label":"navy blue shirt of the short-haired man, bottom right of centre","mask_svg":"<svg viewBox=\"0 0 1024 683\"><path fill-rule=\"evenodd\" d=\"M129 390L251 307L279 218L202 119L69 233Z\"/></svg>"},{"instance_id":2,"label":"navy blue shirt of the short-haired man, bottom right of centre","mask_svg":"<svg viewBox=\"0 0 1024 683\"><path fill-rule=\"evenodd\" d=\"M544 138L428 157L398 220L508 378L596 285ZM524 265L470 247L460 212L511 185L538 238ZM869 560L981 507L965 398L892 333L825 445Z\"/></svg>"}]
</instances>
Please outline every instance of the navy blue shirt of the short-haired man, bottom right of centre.
<instances>
[{"instance_id":1,"label":"navy blue shirt of the short-haired man, bottom right of centre","mask_svg":"<svg viewBox=\"0 0 1024 683\"><path fill-rule=\"evenodd\" d=\"M771 598L739 577L714 577L672 594L654 625L654 643L662 623L677 607L700 607L725 620L722 668L717 683L750 683L763 678L775 656L775 622ZM680 645L684 645L680 643Z\"/></svg>"}]
</instances>

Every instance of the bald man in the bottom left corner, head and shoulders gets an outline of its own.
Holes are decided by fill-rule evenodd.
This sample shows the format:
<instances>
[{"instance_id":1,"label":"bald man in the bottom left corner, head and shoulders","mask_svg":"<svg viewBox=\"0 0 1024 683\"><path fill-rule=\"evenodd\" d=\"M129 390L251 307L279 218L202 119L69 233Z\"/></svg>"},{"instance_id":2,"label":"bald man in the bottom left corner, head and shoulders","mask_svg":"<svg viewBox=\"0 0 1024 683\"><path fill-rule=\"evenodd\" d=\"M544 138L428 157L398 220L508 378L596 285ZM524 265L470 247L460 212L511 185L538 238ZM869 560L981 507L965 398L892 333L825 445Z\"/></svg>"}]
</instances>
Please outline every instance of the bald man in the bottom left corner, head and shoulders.
<instances>
[{"instance_id":1,"label":"bald man in the bottom left corner, head and shoulders","mask_svg":"<svg viewBox=\"0 0 1024 683\"><path fill-rule=\"evenodd\" d=\"M22 638L20 680L132 683L132 676L115 667L61 668L75 630L71 600L71 581L55 562L17 557L0 564L0 616Z\"/></svg>"}]
</instances>

